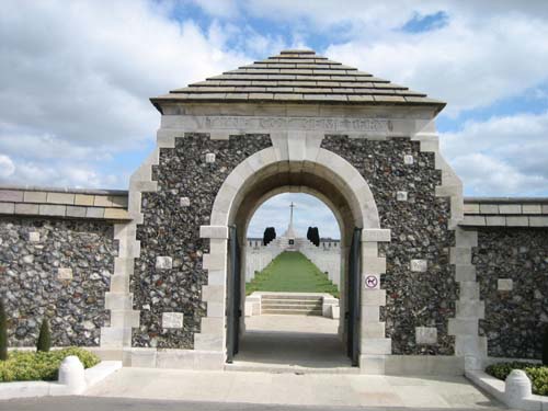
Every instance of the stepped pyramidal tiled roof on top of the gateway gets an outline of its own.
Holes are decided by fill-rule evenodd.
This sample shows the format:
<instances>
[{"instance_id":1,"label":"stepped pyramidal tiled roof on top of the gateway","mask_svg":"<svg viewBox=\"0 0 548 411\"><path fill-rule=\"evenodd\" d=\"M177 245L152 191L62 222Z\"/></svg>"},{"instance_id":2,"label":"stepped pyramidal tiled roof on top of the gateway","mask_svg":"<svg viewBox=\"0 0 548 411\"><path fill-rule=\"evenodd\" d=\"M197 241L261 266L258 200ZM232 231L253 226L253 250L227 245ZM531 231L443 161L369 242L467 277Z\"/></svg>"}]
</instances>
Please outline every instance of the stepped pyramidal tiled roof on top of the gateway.
<instances>
[{"instance_id":1,"label":"stepped pyramidal tiled roof on top of the gateway","mask_svg":"<svg viewBox=\"0 0 548 411\"><path fill-rule=\"evenodd\" d=\"M379 79L368 72L318 56L312 50L283 50L277 56L242 66L150 99L162 102L293 102L430 105L445 103Z\"/></svg>"}]
</instances>

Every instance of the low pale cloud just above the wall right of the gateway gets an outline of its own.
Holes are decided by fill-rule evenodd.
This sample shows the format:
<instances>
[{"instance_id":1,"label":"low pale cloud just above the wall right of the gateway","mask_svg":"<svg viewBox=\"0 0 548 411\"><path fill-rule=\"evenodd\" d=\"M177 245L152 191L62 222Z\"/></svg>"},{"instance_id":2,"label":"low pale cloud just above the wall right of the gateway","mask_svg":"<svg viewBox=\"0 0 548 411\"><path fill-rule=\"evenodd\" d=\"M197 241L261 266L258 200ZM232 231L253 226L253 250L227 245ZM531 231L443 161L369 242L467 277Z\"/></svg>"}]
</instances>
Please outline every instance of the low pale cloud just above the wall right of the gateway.
<instances>
[{"instance_id":1,"label":"low pale cloud just above the wall right of the gateway","mask_svg":"<svg viewBox=\"0 0 548 411\"><path fill-rule=\"evenodd\" d=\"M548 194L548 111L468 122L441 136L468 195Z\"/></svg>"}]
</instances>

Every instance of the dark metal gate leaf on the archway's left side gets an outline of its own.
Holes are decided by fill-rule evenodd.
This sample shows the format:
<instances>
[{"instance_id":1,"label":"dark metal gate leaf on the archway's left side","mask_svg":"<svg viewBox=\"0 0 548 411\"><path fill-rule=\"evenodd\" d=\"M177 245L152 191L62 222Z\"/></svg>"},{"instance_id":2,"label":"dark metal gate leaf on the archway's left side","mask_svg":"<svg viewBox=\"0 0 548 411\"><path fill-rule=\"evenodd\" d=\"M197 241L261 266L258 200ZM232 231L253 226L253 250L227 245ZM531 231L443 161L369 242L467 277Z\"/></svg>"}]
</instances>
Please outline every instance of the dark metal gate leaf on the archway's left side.
<instances>
[{"instance_id":1,"label":"dark metal gate leaf on the archway's left side","mask_svg":"<svg viewBox=\"0 0 548 411\"><path fill-rule=\"evenodd\" d=\"M240 277L240 247L236 227L229 228L230 270L228 272L227 293L227 362L231 363L238 354L241 317L241 277Z\"/></svg>"}]
</instances>

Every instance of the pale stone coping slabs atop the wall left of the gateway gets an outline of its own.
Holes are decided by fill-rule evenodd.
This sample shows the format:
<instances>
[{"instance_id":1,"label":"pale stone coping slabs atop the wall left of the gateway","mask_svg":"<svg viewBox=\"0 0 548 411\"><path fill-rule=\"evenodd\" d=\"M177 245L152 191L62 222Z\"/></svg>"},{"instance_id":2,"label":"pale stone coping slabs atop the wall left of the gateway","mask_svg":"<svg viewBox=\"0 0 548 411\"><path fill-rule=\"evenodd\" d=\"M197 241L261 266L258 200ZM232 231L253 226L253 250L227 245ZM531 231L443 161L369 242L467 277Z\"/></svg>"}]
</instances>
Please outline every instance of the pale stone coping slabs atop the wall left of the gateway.
<instances>
[{"instance_id":1,"label":"pale stone coping slabs atop the wall left of the gateway","mask_svg":"<svg viewBox=\"0 0 548 411\"><path fill-rule=\"evenodd\" d=\"M127 192L0 186L0 215L129 220Z\"/></svg>"}]
</instances>

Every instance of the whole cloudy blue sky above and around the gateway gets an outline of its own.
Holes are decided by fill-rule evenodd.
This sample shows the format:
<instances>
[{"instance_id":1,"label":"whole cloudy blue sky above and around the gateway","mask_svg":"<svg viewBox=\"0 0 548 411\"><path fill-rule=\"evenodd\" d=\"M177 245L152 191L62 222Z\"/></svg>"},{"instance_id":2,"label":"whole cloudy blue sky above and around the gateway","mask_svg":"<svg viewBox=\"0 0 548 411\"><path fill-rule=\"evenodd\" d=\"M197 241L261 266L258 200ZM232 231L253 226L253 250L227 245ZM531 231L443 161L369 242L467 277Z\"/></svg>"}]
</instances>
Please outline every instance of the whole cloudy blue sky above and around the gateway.
<instances>
[{"instance_id":1,"label":"whole cloudy blue sky above and around the gateway","mask_svg":"<svg viewBox=\"0 0 548 411\"><path fill-rule=\"evenodd\" d=\"M447 102L465 195L547 196L547 38L544 0L2 0L0 184L127 189L150 96L312 48Z\"/></svg>"}]
</instances>

